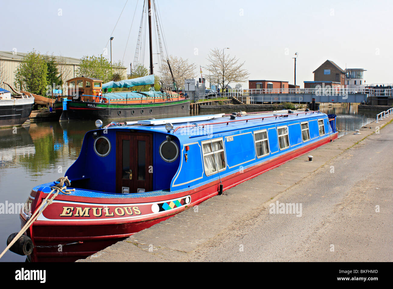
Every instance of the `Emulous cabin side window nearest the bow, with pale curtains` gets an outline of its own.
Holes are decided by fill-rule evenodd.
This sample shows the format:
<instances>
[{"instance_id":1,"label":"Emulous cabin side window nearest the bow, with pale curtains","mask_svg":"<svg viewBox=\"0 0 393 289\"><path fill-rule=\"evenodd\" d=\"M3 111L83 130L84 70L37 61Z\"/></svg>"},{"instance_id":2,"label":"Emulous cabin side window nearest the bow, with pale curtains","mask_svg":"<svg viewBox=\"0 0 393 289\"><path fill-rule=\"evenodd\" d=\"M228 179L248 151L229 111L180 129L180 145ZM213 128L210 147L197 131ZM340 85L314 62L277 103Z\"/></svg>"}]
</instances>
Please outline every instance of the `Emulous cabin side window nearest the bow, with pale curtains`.
<instances>
[{"instance_id":1,"label":"Emulous cabin side window nearest the bow, with pale curtains","mask_svg":"<svg viewBox=\"0 0 393 289\"><path fill-rule=\"evenodd\" d=\"M205 174L213 175L226 168L222 138L202 142Z\"/></svg>"}]
</instances>

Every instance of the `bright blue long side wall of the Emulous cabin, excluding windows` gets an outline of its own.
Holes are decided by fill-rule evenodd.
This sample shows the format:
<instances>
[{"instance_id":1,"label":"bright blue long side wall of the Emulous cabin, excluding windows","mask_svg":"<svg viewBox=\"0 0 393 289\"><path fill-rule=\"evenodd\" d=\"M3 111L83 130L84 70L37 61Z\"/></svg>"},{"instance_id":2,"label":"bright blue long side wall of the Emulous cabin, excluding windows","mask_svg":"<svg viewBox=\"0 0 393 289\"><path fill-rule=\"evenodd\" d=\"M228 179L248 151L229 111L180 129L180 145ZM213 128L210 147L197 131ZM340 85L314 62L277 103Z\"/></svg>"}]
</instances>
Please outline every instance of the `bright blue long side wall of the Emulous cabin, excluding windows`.
<instances>
[{"instance_id":1,"label":"bright blue long side wall of the Emulous cabin, excluding windows","mask_svg":"<svg viewBox=\"0 0 393 289\"><path fill-rule=\"evenodd\" d=\"M320 133L320 122L323 122L324 134ZM302 124L309 127L309 139L303 140ZM278 128L287 127L289 146L281 148L279 144ZM198 129L198 128L194 128ZM266 131L268 153L258 156L255 143L255 133ZM190 132L192 134L192 132ZM296 151L306 145L316 143L333 134L332 127L326 114L319 113L317 116L302 117L296 119L283 118L275 123L258 124L246 128L227 129L202 136L189 136L182 139L182 155L187 153L187 162L182 157L180 167L171 182L171 191L185 190L195 186L208 184L244 171L253 166L258 166L280 155ZM221 171L212 175L205 172L204 153L202 145L206 140L222 140L226 166ZM186 152L185 147L189 150Z\"/></svg>"}]
</instances>

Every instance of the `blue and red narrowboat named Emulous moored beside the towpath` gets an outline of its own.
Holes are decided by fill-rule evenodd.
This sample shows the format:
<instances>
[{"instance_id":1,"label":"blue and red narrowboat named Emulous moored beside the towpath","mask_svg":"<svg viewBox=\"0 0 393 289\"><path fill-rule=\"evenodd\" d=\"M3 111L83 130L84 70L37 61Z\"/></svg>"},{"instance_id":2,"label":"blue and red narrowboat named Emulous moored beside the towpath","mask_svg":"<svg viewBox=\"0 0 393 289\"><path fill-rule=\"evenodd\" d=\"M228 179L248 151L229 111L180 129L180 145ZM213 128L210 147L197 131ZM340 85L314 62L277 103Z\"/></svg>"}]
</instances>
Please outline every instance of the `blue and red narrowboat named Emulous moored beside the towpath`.
<instances>
[{"instance_id":1,"label":"blue and red narrowboat named Emulous moored beside the towpath","mask_svg":"<svg viewBox=\"0 0 393 289\"><path fill-rule=\"evenodd\" d=\"M335 115L296 110L112 122L84 136L59 193L27 231L31 261L74 261L337 138ZM333 128L333 129L332 129ZM22 226L54 183L36 186ZM28 208L28 206L26 206ZM71 245L67 245L71 244ZM62 245L62 250L59 250Z\"/></svg>"}]
</instances>

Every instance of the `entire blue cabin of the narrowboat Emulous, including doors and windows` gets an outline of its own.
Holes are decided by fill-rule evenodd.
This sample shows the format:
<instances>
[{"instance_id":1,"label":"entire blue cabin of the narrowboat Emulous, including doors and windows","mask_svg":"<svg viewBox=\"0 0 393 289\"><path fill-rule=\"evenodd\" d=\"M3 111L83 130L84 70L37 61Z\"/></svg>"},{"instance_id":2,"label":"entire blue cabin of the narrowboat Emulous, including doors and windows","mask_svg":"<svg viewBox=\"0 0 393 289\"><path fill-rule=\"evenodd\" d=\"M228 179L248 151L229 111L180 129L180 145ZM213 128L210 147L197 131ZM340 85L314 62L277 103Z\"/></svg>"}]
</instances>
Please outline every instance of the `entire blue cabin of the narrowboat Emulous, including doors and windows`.
<instances>
[{"instance_id":1,"label":"entire blue cabin of the narrowboat Emulous, including doors and windows","mask_svg":"<svg viewBox=\"0 0 393 289\"><path fill-rule=\"evenodd\" d=\"M105 193L188 190L334 134L328 116L320 112L264 121L238 119L203 127L188 125L170 133L163 125L89 131L66 175L74 188Z\"/></svg>"}]
</instances>

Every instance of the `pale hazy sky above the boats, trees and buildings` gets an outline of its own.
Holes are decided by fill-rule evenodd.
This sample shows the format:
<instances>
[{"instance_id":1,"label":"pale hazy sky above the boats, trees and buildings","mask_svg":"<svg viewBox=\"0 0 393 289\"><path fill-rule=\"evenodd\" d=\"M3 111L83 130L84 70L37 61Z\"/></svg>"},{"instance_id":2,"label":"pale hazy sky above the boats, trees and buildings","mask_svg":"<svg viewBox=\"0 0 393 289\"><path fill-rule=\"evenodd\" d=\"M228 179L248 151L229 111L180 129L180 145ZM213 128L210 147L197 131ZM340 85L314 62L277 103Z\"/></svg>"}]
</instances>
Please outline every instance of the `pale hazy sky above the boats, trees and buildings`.
<instances>
[{"instance_id":1,"label":"pale hazy sky above the boats, trees and buildings","mask_svg":"<svg viewBox=\"0 0 393 289\"><path fill-rule=\"evenodd\" d=\"M2 1L0 50L16 48L18 52L29 52L34 48L40 53L77 58L99 55L125 2ZM123 59L125 52L124 65L128 68L134 60L142 2L139 0L126 51L137 0L127 2L112 35L112 60ZM225 53L245 61L249 79L294 83L292 57L298 52L296 83L301 87L303 81L314 79L312 72L327 59L343 69L366 69L366 84L393 82L389 72L393 64L392 1L156 0L156 3L169 53L189 59L198 68L208 64L209 49L229 47ZM195 76L198 74L199 69Z\"/></svg>"}]
</instances>

